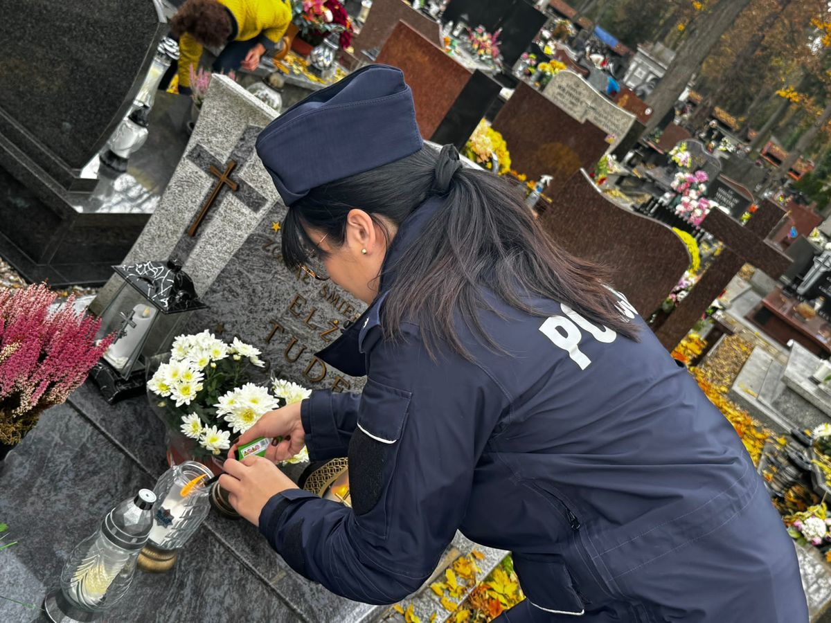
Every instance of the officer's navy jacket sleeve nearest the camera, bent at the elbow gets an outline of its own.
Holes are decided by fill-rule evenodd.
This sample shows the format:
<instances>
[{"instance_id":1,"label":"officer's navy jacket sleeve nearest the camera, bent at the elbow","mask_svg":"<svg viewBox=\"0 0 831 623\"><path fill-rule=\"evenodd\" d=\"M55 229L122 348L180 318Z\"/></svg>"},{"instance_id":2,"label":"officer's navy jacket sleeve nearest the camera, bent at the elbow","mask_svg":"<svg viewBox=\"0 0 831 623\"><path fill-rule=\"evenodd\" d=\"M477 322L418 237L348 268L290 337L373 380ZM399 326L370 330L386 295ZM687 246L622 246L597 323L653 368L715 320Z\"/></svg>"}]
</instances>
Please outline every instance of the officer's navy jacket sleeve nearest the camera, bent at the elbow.
<instances>
[{"instance_id":1,"label":"officer's navy jacket sleeve nearest the camera, bent at the elbow","mask_svg":"<svg viewBox=\"0 0 831 623\"><path fill-rule=\"evenodd\" d=\"M373 329L373 334L380 334ZM274 496L260 531L295 571L356 601L391 604L435 570L465 516L475 465L509 399L455 354L376 337L349 444L352 508L297 489Z\"/></svg>"}]
</instances>

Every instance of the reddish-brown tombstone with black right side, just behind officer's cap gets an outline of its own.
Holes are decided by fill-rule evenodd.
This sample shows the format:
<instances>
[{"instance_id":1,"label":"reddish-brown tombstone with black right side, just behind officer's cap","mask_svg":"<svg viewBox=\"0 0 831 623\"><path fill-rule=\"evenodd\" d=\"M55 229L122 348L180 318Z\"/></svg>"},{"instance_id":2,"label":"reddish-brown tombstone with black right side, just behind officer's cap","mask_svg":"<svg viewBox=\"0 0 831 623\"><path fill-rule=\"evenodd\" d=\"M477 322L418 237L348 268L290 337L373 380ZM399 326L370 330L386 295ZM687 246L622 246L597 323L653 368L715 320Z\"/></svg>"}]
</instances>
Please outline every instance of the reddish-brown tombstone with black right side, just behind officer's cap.
<instances>
[{"instance_id":1,"label":"reddish-brown tombstone with black right side, just behind officer's cap","mask_svg":"<svg viewBox=\"0 0 831 623\"><path fill-rule=\"evenodd\" d=\"M470 71L404 22L396 26L378 62L404 71L421 135L436 142L464 146L499 96L498 82Z\"/></svg>"}]
</instances>

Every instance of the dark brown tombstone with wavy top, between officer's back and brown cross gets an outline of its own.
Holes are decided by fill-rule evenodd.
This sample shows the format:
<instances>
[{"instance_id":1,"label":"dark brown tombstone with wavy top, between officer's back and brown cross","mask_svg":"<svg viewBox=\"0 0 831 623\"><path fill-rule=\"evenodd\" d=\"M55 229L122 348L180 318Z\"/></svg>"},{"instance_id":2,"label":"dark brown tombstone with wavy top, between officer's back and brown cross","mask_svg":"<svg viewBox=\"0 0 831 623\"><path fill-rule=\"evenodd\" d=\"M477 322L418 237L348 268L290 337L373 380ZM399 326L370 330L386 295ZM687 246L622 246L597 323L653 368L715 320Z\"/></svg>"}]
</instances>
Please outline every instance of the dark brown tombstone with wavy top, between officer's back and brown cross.
<instances>
[{"instance_id":1,"label":"dark brown tombstone with wavy top, between officer's back and brown cross","mask_svg":"<svg viewBox=\"0 0 831 623\"><path fill-rule=\"evenodd\" d=\"M612 203L578 171L539 217L566 251L606 266L612 284L648 318L690 266L690 253L671 228Z\"/></svg>"}]
</instances>

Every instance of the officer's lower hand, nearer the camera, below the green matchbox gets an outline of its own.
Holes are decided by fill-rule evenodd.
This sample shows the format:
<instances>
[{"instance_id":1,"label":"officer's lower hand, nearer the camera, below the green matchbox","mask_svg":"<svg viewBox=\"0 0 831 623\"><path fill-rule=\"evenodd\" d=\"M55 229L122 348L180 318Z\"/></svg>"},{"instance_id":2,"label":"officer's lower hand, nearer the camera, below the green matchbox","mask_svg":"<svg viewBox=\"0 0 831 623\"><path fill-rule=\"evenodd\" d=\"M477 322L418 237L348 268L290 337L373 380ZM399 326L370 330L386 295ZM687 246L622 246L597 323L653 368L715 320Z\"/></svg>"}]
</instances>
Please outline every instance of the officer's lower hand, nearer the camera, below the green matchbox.
<instances>
[{"instance_id":1,"label":"officer's lower hand, nearer the camera, below the green matchbox","mask_svg":"<svg viewBox=\"0 0 831 623\"><path fill-rule=\"evenodd\" d=\"M242 462L228 459L219 484L228 492L231 506L255 526L268 500L297 485L277 465L260 456L249 456Z\"/></svg>"}]
</instances>

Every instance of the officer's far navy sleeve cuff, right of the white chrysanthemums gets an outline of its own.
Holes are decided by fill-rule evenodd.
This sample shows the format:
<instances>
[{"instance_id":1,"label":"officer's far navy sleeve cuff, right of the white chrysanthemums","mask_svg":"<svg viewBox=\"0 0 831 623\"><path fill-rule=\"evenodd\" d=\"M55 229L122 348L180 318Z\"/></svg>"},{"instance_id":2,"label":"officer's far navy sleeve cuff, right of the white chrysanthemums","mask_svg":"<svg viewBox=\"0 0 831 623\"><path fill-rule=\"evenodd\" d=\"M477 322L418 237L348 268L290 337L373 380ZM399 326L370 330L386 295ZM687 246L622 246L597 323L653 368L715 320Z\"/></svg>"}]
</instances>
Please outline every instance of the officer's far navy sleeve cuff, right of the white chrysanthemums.
<instances>
[{"instance_id":1,"label":"officer's far navy sleeve cuff, right of the white chrysanthemums","mask_svg":"<svg viewBox=\"0 0 831 623\"><path fill-rule=\"evenodd\" d=\"M361 395L352 392L315 391L311 398L303 400L300 417L309 459L324 461L347 456L360 404Z\"/></svg>"}]
</instances>

